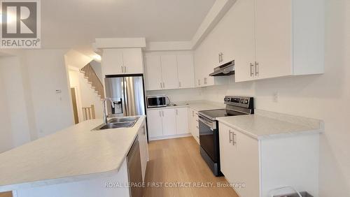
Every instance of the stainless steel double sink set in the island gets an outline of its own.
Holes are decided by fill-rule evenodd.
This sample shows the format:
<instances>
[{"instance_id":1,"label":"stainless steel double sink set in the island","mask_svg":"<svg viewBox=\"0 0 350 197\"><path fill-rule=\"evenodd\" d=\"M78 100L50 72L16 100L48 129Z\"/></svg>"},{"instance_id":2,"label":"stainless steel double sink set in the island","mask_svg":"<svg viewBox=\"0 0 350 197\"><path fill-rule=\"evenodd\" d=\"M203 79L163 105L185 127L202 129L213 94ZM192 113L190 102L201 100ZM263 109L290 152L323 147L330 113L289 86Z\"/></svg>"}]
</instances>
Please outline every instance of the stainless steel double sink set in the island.
<instances>
[{"instance_id":1,"label":"stainless steel double sink set in the island","mask_svg":"<svg viewBox=\"0 0 350 197\"><path fill-rule=\"evenodd\" d=\"M101 124L92 131L99 131L104 129L117 129L117 128L128 128L136 124L139 117L116 117L109 119L107 124Z\"/></svg>"}]
</instances>

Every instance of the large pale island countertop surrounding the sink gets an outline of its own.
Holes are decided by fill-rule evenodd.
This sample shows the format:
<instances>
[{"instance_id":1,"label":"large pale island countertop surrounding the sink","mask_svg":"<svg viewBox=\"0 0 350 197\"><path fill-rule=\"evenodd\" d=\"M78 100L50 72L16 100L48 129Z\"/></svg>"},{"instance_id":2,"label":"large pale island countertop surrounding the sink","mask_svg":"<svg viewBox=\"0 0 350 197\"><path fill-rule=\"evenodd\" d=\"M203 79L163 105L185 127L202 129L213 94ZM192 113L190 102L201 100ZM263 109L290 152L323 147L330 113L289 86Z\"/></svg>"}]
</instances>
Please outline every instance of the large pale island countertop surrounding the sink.
<instances>
[{"instance_id":1,"label":"large pale island countertop surrounding the sink","mask_svg":"<svg viewBox=\"0 0 350 197\"><path fill-rule=\"evenodd\" d=\"M132 128L91 131L103 121L87 120L3 152L0 191L17 184L46 185L118 173L144 121L141 116Z\"/></svg>"}]
</instances>

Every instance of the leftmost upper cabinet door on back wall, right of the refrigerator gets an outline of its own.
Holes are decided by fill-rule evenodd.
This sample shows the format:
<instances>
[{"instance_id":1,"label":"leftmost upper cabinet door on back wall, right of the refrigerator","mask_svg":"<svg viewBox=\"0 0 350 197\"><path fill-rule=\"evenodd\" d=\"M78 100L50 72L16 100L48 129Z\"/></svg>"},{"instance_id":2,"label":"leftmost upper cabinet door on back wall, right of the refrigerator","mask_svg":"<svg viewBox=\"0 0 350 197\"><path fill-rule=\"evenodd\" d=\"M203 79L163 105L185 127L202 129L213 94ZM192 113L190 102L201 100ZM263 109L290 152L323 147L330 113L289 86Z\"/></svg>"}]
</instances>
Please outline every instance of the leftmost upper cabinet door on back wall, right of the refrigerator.
<instances>
[{"instance_id":1,"label":"leftmost upper cabinet door on back wall, right of the refrigerator","mask_svg":"<svg viewBox=\"0 0 350 197\"><path fill-rule=\"evenodd\" d=\"M146 62L146 89L162 89L162 64L160 55L148 55Z\"/></svg>"}]
</instances>

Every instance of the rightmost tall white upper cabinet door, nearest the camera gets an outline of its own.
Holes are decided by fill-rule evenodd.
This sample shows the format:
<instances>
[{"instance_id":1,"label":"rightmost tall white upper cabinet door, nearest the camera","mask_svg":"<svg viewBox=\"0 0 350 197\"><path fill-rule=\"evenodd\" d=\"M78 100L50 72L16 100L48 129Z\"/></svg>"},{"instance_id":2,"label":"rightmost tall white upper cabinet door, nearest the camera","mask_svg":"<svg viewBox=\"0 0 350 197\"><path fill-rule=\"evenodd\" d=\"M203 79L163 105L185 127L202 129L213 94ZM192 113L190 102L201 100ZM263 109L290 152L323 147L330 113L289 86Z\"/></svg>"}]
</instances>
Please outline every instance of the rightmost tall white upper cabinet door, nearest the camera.
<instances>
[{"instance_id":1,"label":"rightmost tall white upper cabinet door, nearest the camera","mask_svg":"<svg viewBox=\"0 0 350 197\"><path fill-rule=\"evenodd\" d=\"M255 0L255 73L260 79L293 74L292 11L292 0Z\"/></svg>"}]
</instances>

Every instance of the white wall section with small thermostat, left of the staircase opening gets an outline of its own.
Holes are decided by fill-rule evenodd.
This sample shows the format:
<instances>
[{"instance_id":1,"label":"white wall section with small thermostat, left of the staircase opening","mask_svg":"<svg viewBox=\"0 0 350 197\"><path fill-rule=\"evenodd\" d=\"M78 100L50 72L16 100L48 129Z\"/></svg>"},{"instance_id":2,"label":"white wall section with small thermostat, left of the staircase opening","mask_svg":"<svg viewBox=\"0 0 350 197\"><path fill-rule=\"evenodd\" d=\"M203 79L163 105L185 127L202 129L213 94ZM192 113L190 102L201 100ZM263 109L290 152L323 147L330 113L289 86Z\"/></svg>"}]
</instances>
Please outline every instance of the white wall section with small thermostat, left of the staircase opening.
<instances>
[{"instance_id":1,"label":"white wall section with small thermostat, left of the staircase opening","mask_svg":"<svg viewBox=\"0 0 350 197\"><path fill-rule=\"evenodd\" d=\"M27 50L31 100L38 137L73 124L73 109L64 62L66 50ZM61 93L56 93L60 90Z\"/></svg>"}]
</instances>

